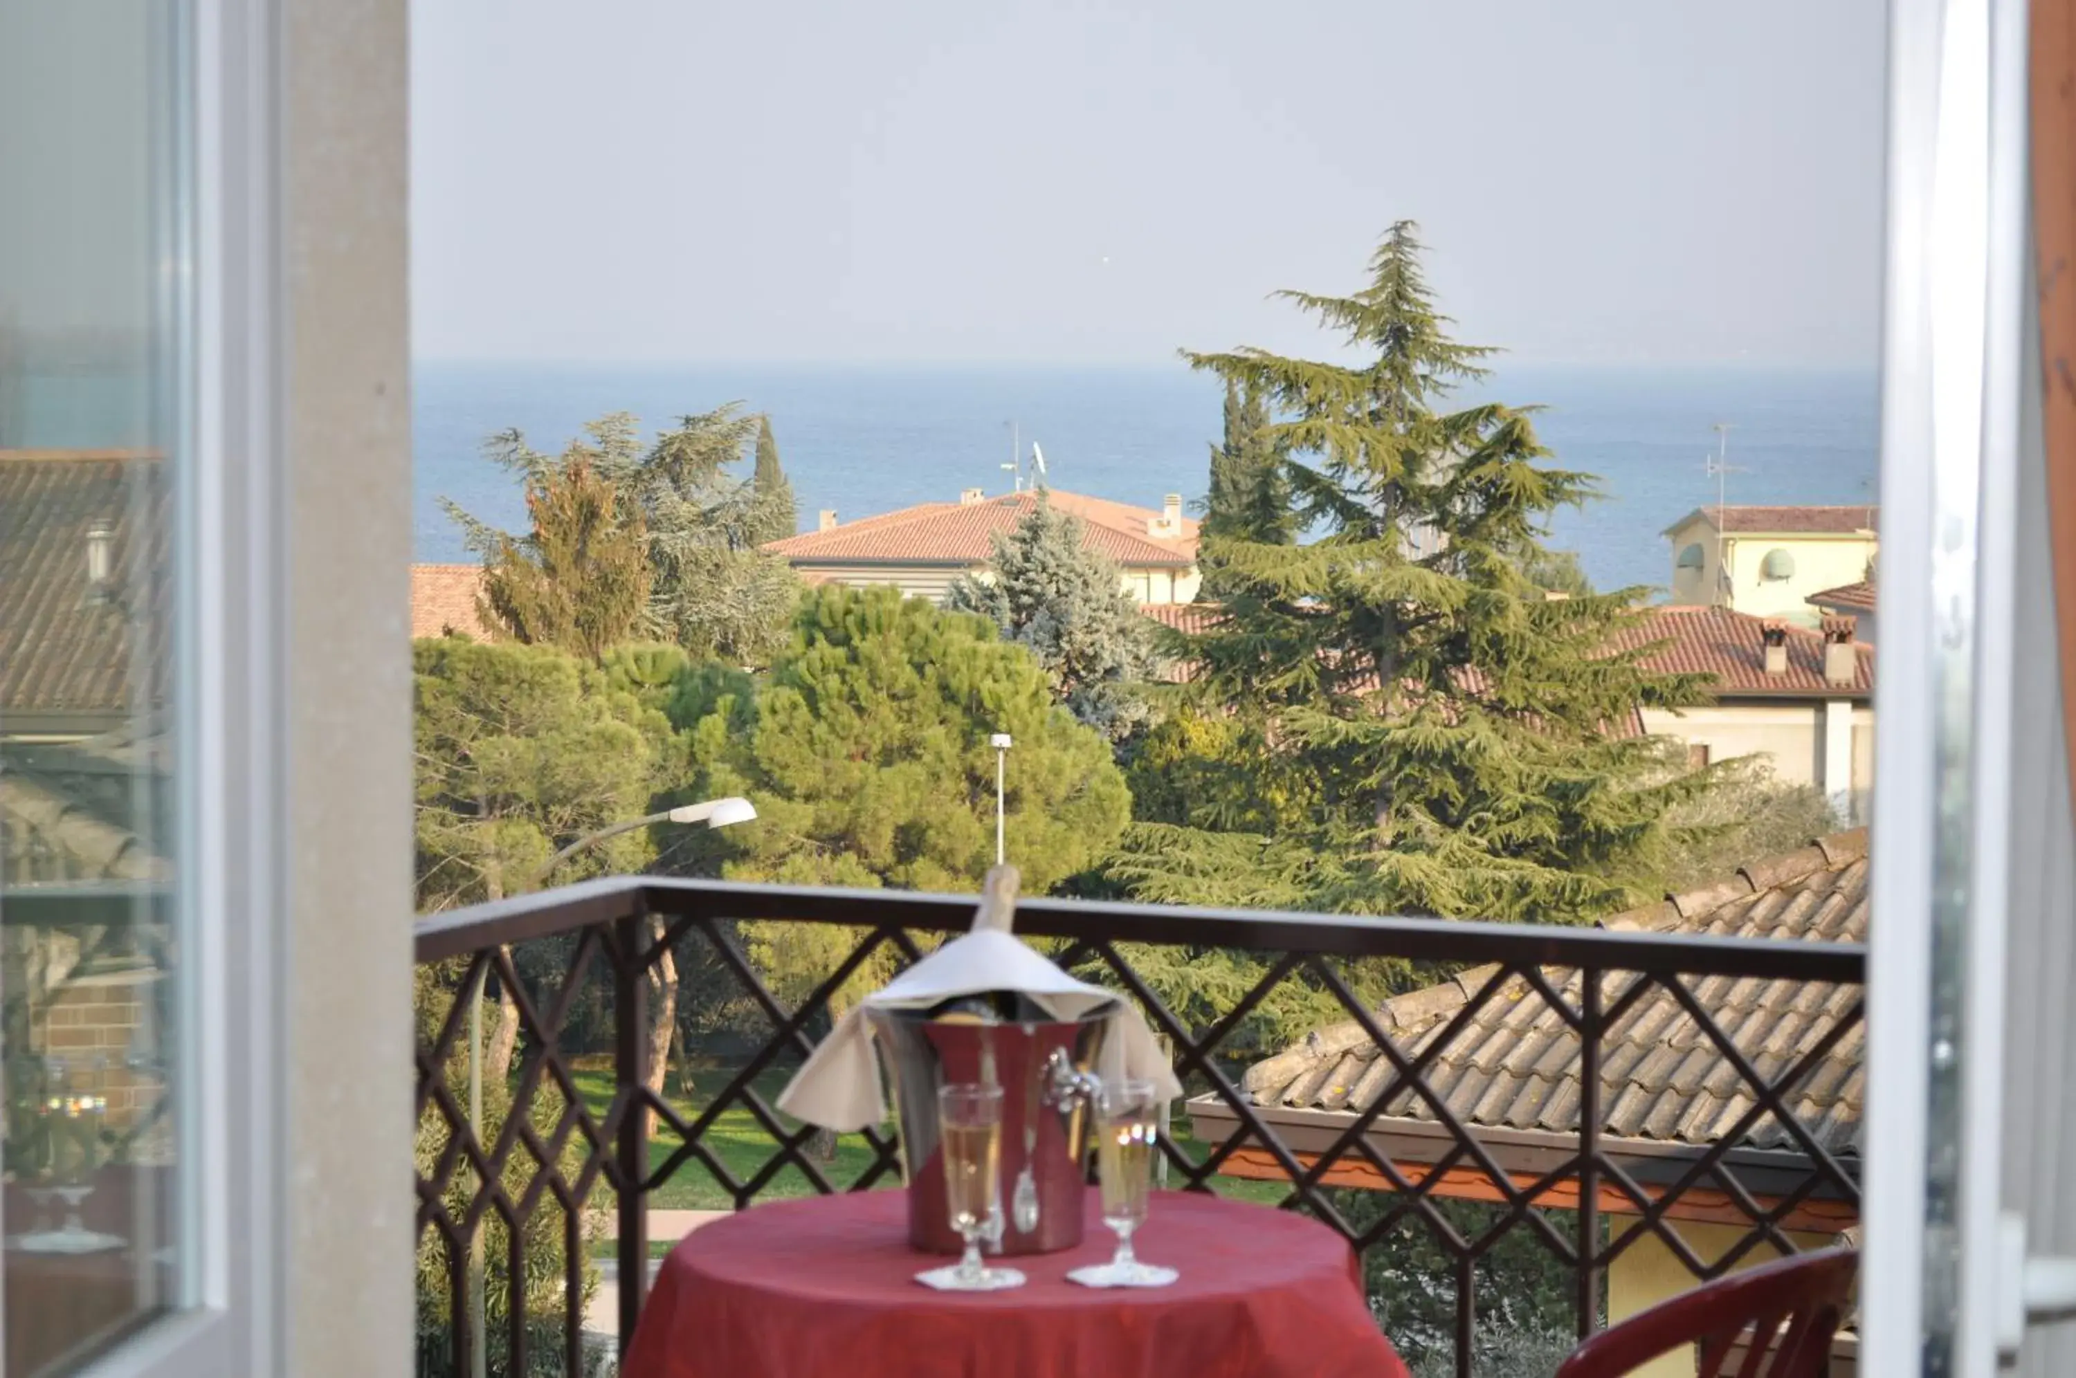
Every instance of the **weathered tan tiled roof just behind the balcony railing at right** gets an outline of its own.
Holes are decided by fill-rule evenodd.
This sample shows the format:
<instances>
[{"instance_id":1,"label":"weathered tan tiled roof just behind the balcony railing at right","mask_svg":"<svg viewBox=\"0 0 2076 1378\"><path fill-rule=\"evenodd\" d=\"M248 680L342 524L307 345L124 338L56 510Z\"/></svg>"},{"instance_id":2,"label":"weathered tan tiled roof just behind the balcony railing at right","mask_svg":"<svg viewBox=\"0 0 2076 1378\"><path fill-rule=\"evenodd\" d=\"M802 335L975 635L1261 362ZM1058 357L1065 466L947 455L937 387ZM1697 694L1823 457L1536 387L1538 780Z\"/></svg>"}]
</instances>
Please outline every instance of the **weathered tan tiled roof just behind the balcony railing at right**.
<instances>
[{"instance_id":1,"label":"weathered tan tiled roof just behind the balcony railing at right","mask_svg":"<svg viewBox=\"0 0 2076 1378\"><path fill-rule=\"evenodd\" d=\"M1603 921L1603 928L1657 930L1775 942L1864 942L1868 926L1866 830L1819 838L1785 857L1752 863L1709 890L1667 899ZM1393 996L1376 1011L1378 1027L1401 1052L1418 1056L1497 967L1474 967L1451 982ZM1545 967L1565 1002L1580 996L1574 969ZM1611 1004L1636 980L1605 977ZM1733 1046L1767 1079L1777 1079L1860 998L1858 988L1812 982L1709 977L1690 984ZM1794 1092L1790 1106L1827 1152L1858 1143L1866 1085L1864 1025L1854 1025ZM1360 1112L1393 1079L1354 1021L1314 1029L1291 1048L1248 1069L1241 1090L1258 1106ZM1580 1108L1578 1038L1520 975L1505 977L1470 1025L1428 1067L1428 1085L1470 1127L1576 1133ZM1704 1146L1727 1133L1750 1096L1721 1048L1661 986L1646 992L1603 1038L1601 1104L1605 1133ZM1385 1117L1435 1121L1412 1092L1397 1092ZM1748 1148L1794 1150L1771 1117L1746 1135Z\"/></svg>"}]
</instances>

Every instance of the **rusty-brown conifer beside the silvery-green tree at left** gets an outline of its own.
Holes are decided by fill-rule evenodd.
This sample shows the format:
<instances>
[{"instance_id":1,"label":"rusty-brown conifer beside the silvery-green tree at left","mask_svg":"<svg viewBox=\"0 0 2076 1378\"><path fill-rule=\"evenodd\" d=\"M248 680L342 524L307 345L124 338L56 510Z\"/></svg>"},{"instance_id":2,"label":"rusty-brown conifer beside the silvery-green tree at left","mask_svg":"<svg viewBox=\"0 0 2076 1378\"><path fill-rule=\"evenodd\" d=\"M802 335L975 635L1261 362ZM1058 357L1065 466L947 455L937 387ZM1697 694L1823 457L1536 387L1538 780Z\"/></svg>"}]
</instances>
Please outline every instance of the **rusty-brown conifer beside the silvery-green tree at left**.
<instances>
[{"instance_id":1,"label":"rusty-brown conifer beside the silvery-green tree at left","mask_svg":"<svg viewBox=\"0 0 2076 1378\"><path fill-rule=\"evenodd\" d=\"M525 492L531 533L496 535L484 562L484 616L529 645L588 660L635 635L648 612L648 531L619 490L577 457Z\"/></svg>"}]
</instances>

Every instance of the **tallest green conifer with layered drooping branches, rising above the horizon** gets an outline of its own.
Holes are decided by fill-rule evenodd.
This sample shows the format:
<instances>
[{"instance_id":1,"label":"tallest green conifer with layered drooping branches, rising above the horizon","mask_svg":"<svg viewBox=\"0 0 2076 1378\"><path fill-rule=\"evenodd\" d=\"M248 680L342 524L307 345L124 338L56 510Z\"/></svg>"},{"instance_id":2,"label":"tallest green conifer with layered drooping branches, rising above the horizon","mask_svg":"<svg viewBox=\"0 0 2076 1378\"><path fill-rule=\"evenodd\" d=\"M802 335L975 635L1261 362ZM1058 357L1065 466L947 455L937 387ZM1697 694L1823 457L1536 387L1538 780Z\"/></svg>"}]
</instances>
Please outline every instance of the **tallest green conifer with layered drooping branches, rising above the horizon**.
<instances>
[{"instance_id":1,"label":"tallest green conifer with layered drooping branches, rising above the horizon","mask_svg":"<svg viewBox=\"0 0 2076 1378\"><path fill-rule=\"evenodd\" d=\"M1667 811L1706 778L1621 728L1704 689L1607 652L1640 589L1549 600L1524 575L1590 475L1549 465L1526 411L1445 409L1488 351L1449 338L1410 222L1358 293L1283 297L1360 361L1185 357L1273 407L1289 529L1316 535L1206 533L1223 616L1173 650L1192 695L1258 743L1235 762L1252 793L1304 822L1144 824L1113 872L1160 901L1370 913L1565 921L1630 901L1667 861Z\"/></svg>"}]
</instances>

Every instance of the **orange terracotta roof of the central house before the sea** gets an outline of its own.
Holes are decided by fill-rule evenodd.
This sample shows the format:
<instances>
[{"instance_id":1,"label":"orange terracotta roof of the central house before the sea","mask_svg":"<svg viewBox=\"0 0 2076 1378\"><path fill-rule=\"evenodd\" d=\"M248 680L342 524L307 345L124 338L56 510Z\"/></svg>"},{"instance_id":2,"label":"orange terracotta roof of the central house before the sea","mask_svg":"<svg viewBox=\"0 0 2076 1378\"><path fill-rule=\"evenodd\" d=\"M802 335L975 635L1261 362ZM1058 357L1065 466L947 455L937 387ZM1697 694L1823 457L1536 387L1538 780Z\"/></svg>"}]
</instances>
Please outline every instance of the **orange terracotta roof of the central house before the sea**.
<instances>
[{"instance_id":1,"label":"orange terracotta roof of the central house before the sea","mask_svg":"<svg viewBox=\"0 0 2076 1378\"><path fill-rule=\"evenodd\" d=\"M1127 567L1196 564L1198 525L1179 521L1181 533L1152 535L1160 513L1050 490L1055 508L1082 519L1084 544ZM764 546L801 564L984 564L994 554L992 535L1011 529L1036 504L1036 492L1003 494L982 502L924 502L897 513L847 521L828 531L803 531Z\"/></svg>"}]
</instances>

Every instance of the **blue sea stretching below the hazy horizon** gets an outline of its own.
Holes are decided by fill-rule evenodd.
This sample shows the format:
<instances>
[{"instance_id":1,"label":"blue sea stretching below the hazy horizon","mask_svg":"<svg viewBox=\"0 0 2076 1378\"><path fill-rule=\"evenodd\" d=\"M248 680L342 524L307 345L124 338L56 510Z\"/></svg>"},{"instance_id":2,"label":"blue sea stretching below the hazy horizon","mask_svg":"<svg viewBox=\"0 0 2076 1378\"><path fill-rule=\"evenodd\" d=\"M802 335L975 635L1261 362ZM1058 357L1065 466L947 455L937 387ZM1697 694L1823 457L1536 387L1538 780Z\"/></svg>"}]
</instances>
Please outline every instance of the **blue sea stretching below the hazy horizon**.
<instances>
[{"instance_id":1,"label":"blue sea stretching below the hazy horizon","mask_svg":"<svg viewBox=\"0 0 2076 1378\"><path fill-rule=\"evenodd\" d=\"M482 459L492 432L517 425L556 450L606 411L646 430L739 401L772 419L801 523L841 519L963 488L1007 492L1011 436L1044 448L1057 488L1158 506L1202 498L1223 390L1187 367L585 367L421 363L415 382L419 560L463 560L440 511L453 498L504 527L523 525L511 477ZM1551 544L1576 550L1599 587L1663 585L1661 531L1715 502L1704 459L1727 421L1731 502L1873 502L1877 378L1769 369L1507 367L1478 396L1540 405L1536 430L1555 461L1599 475L1605 498L1555 517ZM1011 432L1011 423L1015 430Z\"/></svg>"}]
</instances>

